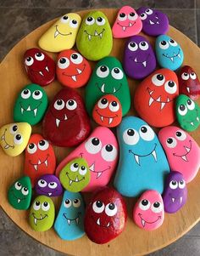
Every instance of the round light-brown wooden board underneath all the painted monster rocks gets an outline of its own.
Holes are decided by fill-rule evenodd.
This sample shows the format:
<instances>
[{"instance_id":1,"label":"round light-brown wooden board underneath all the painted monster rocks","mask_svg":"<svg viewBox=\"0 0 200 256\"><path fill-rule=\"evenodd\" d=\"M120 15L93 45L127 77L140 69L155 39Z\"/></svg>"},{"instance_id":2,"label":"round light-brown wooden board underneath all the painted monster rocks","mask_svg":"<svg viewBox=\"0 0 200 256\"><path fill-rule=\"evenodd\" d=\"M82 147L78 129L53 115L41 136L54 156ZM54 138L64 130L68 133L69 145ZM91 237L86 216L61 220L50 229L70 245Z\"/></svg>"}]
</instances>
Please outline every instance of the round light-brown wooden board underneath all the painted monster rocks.
<instances>
[{"instance_id":1,"label":"round light-brown wooden board underneath all the painted monster rocks","mask_svg":"<svg viewBox=\"0 0 200 256\"><path fill-rule=\"evenodd\" d=\"M117 9L103 9L103 12L108 16L108 20L112 25L117 14ZM83 17L88 11L82 11L79 14ZM3 124L13 122L13 108L14 101L19 93L19 90L30 83L26 74L23 64L23 54L27 48L37 47L38 39L42 36L42 33L47 30L49 26L53 24L55 20L47 22L47 24L32 31L31 34L22 39L14 48L8 53L0 65L0 77L1 77L1 94L0 94L0 126ZM181 47L185 53L185 65L192 65L197 71L198 77L200 77L200 50L195 43L183 35L180 31L177 31L174 27L170 27L169 36L175 38L175 40L181 43ZM147 37L147 36L145 36ZM148 37L151 43L154 44L154 38ZM114 39L114 47L111 55L114 55L122 60L123 48L126 39ZM54 60L56 60L57 54L50 54ZM95 63L92 63L94 66ZM134 94L134 88L138 82L129 79L129 85L131 88L131 98ZM53 100L53 95L62 88L61 85L55 81L50 86L47 86L49 100ZM79 89L81 94L84 94L84 89ZM200 99L198 100L200 104ZM131 107L130 114L136 115ZM33 127L33 133L41 132L41 124ZM200 132L199 128L192 133L192 137L195 138L200 145ZM69 149L55 147L58 162L60 162L64 156L66 156ZM8 214L9 218L14 221L22 230L35 238L37 241L42 242L48 247L52 247L60 252L69 253L72 255L139 255L146 254L164 247L171 242L174 242L180 236L183 236L192 226L196 225L200 219L200 175L198 174L196 179L188 185L188 201L185 207L175 214L165 214L164 225L158 230L144 231L139 229L132 221L132 208L135 203L135 199L126 199L128 207L128 221L125 227L125 231L114 241L104 245L97 245L91 242L87 236L82 237L79 240L66 242L61 240L53 229L46 232L36 232L31 230L28 224L28 211L15 210L8 204L7 191L8 186L11 185L15 179L23 174L24 167L24 153L20 156L10 157L0 150L0 203L3 210ZM84 195L86 201L90 195ZM56 209L58 212L60 198L54 200ZM12 237L10 237L12 239Z\"/></svg>"}]
</instances>

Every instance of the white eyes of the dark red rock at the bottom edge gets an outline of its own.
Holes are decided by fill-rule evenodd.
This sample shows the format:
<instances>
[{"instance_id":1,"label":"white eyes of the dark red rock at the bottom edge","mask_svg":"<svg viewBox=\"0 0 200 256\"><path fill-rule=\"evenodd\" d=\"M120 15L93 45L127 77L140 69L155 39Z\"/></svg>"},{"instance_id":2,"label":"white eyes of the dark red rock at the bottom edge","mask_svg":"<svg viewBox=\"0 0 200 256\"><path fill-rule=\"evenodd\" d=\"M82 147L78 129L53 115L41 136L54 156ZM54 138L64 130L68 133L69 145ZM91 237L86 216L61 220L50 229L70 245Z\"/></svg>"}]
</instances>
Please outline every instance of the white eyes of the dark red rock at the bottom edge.
<instances>
[{"instance_id":1,"label":"white eyes of the dark red rock at the bottom edge","mask_svg":"<svg viewBox=\"0 0 200 256\"><path fill-rule=\"evenodd\" d=\"M92 204L92 209L95 213L103 213L105 209L105 213L109 216L112 217L117 213L117 206L114 204L114 202L109 202L106 206L102 201L95 201Z\"/></svg>"}]
</instances>

